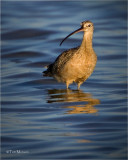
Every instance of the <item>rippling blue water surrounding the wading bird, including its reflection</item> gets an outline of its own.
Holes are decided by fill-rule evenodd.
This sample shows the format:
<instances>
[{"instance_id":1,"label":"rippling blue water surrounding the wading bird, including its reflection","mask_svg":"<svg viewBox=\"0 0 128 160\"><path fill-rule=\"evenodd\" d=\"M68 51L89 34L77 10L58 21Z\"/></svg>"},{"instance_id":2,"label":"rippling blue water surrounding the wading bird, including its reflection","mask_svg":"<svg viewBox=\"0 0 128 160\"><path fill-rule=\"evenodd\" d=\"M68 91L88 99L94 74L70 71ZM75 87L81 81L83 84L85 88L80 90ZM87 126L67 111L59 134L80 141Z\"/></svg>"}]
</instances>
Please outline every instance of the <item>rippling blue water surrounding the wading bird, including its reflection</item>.
<instances>
[{"instance_id":1,"label":"rippling blue water surrounding the wading bird, including its reflection","mask_svg":"<svg viewBox=\"0 0 128 160\"><path fill-rule=\"evenodd\" d=\"M2 158L127 159L126 1L2 2ZM76 90L42 77L94 23L94 73Z\"/></svg>"}]
</instances>

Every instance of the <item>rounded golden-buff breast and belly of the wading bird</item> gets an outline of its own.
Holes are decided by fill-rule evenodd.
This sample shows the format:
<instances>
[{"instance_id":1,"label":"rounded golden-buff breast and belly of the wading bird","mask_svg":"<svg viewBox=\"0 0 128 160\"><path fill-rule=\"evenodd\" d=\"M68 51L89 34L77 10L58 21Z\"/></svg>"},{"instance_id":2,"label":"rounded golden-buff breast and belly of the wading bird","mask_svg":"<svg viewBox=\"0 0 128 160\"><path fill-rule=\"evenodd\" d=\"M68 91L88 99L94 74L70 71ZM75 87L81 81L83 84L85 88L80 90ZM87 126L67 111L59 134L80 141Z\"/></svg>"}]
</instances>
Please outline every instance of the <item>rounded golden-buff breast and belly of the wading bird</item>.
<instances>
[{"instance_id":1,"label":"rounded golden-buff breast and belly of the wading bird","mask_svg":"<svg viewBox=\"0 0 128 160\"><path fill-rule=\"evenodd\" d=\"M60 74L57 77L58 81L62 82L84 82L93 72L96 65L96 58L85 57L73 58L60 70ZM56 78L56 79L57 79Z\"/></svg>"}]
</instances>

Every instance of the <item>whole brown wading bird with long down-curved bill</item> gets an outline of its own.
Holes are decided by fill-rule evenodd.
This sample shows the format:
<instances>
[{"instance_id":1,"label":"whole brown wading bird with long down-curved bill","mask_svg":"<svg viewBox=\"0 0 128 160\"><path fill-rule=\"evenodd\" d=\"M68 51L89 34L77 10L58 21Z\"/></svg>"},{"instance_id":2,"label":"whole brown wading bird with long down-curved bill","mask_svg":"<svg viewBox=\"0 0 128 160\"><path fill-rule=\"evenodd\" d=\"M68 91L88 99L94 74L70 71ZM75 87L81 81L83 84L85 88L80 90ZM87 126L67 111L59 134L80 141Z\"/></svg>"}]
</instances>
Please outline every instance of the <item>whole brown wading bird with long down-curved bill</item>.
<instances>
[{"instance_id":1,"label":"whole brown wading bird with long down-curved bill","mask_svg":"<svg viewBox=\"0 0 128 160\"><path fill-rule=\"evenodd\" d=\"M69 36L84 32L81 45L62 52L55 62L47 66L43 76L54 77L58 82L66 83L67 89L70 84L75 82L79 89L80 85L92 74L97 62L97 56L92 46L93 30L93 23L84 21L79 29L64 38L60 45Z\"/></svg>"}]
</instances>

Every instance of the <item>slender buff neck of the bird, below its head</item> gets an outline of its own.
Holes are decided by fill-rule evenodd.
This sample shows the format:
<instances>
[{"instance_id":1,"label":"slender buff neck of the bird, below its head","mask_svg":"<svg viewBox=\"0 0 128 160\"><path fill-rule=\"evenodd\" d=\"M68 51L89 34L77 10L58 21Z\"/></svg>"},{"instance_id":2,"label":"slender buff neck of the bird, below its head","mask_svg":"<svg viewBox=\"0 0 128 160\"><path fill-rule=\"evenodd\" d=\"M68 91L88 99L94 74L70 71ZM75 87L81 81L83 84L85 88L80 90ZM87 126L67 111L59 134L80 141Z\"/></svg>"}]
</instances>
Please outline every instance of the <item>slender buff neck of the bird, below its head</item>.
<instances>
[{"instance_id":1,"label":"slender buff neck of the bird, below its head","mask_svg":"<svg viewBox=\"0 0 128 160\"><path fill-rule=\"evenodd\" d=\"M93 32L84 32L80 49L86 50L87 52L92 52L93 51L92 39L93 39Z\"/></svg>"}]
</instances>

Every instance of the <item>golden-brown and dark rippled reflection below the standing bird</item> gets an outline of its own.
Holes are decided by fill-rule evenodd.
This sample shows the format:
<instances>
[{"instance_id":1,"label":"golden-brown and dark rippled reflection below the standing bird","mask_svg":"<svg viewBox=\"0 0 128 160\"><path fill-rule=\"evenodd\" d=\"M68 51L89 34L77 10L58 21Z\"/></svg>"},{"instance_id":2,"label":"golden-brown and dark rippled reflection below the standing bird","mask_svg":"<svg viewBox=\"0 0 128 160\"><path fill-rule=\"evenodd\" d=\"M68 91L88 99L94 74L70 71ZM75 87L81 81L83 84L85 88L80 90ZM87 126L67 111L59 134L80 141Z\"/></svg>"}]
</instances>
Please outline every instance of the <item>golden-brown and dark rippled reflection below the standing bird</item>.
<instances>
[{"instance_id":1,"label":"golden-brown and dark rippled reflection below the standing bird","mask_svg":"<svg viewBox=\"0 0 128 160\"><path fill-rule=\"evenodd\" d=\"M84 93L81 90L48 90L47 103L55 102L73 102L69 103L67 114L96 113L98 110L94 107L100 104L99 99L92 98L90 93Z\"/></svg>"}]
</instances>

